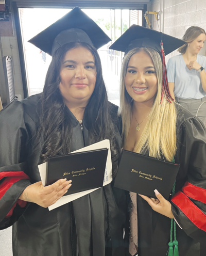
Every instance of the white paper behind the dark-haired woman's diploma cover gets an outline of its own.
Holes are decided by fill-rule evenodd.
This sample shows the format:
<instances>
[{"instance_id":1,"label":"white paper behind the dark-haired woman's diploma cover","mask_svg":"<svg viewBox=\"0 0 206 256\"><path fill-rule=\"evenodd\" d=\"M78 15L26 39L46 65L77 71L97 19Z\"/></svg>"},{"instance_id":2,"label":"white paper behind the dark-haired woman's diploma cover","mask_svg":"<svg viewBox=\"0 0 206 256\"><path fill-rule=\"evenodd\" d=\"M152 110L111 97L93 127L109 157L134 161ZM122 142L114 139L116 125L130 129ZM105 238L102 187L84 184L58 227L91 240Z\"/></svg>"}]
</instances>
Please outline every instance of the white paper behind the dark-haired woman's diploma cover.
<instances>
[{"instance_id":1,"label":"white paper behind the dark-haired woman's diploma cover","mask_svg":"<svg viewBox=\"0 0 206 256\"><path fill-rule=\"evenodd\" d=\"M99 142L94 143L94 144L92 144L88 147L73 151L72 153L95 150L95 149L102 149L102 148L108 148L108 156L107 156L105 177L104 177L104 183L103 183L103 186L105 186L105 185L112 182L112 158L111 158L109 139L99 141ZM40 172L40 177L41 177L41 180L42 180L42 184L45 186L45 183L46 183L46 163L43 163L43 164L39 165L38 167L39 167L39 172ZM77 198L88 195L89 193L92 193L96 189L99 189L99 187L94 188L94 189L90 189L90 190L87 190L87 191L82 191L82 192L79 192L79 193L75 193L75 194L72 194L72 195L61 197L56 203L49 206L48 210L51 211L51 210L65 204L65 203L74 201Z\"/></svg>"}]
</instances>

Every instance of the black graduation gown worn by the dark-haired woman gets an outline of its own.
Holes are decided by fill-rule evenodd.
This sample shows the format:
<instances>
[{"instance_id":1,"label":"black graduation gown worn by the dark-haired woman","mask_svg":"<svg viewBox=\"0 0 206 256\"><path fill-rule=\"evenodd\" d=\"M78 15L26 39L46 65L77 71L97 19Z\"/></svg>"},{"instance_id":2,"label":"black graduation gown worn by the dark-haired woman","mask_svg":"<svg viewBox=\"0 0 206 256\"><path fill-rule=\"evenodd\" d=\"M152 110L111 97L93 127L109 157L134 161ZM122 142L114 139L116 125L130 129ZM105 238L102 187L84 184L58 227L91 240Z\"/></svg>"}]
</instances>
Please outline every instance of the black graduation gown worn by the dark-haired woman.
<instances>
[{"instance_id":1,"label":"black graduation gown worn by the dark-haired woman","mask_svg":"<svg viewBox=\"0 0 206 256\"><path fill-rule=\"evenodd\" d=\"M40 104L41 94L37 94L14 101L0 112L0 228L13 225L13 255L123 256L124 191L115 189L113 193L109 184L50 212L18 199L28 185L41 180ZM116 106L111 107L117 111ZM73 124L71 151L88 146L85 120L82 135L79 122L70 110L67 114ZM118 130L116 137L121 143Z\"/></svg>"}]
</instances>

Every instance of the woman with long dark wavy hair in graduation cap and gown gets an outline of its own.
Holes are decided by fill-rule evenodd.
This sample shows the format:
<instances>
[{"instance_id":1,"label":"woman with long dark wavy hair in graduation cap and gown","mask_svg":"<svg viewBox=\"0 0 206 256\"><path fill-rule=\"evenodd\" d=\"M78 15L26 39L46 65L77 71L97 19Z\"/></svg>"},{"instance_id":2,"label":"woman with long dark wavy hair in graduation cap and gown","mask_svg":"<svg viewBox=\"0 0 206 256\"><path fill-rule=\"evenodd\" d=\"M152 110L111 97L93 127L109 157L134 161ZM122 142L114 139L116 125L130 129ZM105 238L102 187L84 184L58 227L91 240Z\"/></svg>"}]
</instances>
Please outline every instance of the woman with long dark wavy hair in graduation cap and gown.
<instances>
[{"instance_id":1,"label":"woman with long dark wavy hair in graduation cap and gown","mask_svg":"<svg viewBox=\"0 0 206 256\"><path fill-rule=\"evenodd\" d=\"M44 187L38 170L49 156L109 139L115 176L117 107L108 102L96 50L109 40L78 7L30 40L53 58L43 93L0 114L0 227L13 225L13 255L124 255L121 190L108 184L48 211L71 181Z\"/></svg>"}]
</instances>

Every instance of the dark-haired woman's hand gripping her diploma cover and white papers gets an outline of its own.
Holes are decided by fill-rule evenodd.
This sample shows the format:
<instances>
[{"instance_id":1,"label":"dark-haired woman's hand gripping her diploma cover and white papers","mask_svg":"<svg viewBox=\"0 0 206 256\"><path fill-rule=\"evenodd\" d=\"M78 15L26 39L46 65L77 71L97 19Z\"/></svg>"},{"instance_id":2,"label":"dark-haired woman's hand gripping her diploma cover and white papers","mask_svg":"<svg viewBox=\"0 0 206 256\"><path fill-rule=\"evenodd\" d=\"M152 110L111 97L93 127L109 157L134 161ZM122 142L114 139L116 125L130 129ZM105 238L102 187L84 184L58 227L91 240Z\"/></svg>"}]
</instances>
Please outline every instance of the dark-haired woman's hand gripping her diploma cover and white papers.
<instances>
[{"instance_id":1,"label":"dark-haired woman's hand gripping her diploma cover and white papers","mask_svg":"<svg viewBox=\"0 0 206 256\"><path fill-rule=\"evenodd\" d=\"M19 199L26 202L37 203L46 208L56 203L57 200L67 193L67 190L72 186L71 182L71 180L67 181L66 179L61 179L45 187L42 185L42 182L39 181L26 187Z\"/></svg>"}]
</instances>

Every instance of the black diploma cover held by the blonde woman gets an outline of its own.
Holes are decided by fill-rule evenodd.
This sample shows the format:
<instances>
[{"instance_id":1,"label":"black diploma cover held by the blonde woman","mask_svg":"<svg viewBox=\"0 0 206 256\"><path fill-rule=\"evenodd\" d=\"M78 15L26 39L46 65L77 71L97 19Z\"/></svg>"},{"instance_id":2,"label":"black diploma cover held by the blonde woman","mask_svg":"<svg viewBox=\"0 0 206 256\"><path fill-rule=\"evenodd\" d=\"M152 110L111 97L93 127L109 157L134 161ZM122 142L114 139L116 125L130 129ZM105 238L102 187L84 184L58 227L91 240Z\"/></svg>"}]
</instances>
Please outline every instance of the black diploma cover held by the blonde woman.
<instances>
[{"instance_id":1,"label":"black diploma cover held by the blonde woman","mask_svg":"<svg viewBox=\"0 0 206 256\"><path fill-rule=\"evenodd\" d=\"M180 165L123 150L114 186L155 198L157 189L168 200Z\"/></svg>"}]
</instances>

